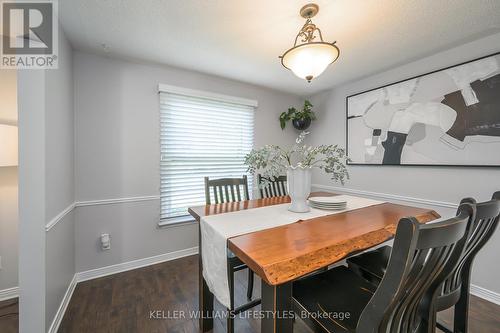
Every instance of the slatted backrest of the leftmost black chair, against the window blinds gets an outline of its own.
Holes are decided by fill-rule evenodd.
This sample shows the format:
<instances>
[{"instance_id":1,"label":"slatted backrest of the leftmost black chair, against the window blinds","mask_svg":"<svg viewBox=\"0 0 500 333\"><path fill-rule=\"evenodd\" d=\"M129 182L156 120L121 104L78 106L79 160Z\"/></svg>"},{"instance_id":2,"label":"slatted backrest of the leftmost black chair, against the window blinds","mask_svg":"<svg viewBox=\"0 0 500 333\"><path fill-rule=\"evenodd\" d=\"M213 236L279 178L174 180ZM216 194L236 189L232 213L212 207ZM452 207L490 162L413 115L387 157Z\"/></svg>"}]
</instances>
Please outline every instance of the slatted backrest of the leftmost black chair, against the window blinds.
<instances>
[{"instance_id":1,"label":"slatted backrest of the leftmost black chair, against the window blinds","mask_svg":"<svg viewBox=\"0 0 500 333\"><path fill-rule=\"evenodd\" d=\"M243 188L243 195L241 188ZM212 203L212 195L216 204L249 200L248 179L242 178L220 178L209 179L205 177L205 202Z\"/></svg>"}]
</instances>

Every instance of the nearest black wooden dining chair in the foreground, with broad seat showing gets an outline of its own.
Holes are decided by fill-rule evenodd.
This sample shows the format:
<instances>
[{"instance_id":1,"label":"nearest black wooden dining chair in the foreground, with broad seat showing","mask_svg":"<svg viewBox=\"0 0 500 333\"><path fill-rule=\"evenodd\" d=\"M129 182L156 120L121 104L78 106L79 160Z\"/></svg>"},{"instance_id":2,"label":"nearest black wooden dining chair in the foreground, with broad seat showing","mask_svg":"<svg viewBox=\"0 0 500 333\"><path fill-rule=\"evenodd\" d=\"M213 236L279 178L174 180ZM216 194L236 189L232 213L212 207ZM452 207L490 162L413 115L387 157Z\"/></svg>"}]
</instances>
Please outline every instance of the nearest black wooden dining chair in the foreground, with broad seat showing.
<instances>
[{"instance_id":1,"label":"nearest black wooden dining chair in the foreground, with broad seat showing","mask_svg":"<svg viewBox=\"0 0 500 333\"><path fill-rule=\"evenodd\" d=\"M431 224L399 221L386 274L375 286L345 266L293 283L294 311L315 332L430 333L436 292L459 263L475 207Z\"/></svg>"}]
</instances>

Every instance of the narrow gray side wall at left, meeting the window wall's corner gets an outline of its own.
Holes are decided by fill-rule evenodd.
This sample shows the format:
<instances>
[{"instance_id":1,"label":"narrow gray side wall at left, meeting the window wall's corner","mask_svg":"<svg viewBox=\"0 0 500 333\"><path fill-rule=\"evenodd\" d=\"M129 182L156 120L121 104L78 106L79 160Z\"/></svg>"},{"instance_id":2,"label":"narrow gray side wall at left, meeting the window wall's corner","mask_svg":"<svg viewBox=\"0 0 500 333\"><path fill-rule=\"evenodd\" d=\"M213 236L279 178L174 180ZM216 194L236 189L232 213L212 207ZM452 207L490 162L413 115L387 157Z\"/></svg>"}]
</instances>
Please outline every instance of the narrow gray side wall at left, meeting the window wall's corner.
<instances>
[{"instance_id":1,"label":"narrow gray side wall at left, meeting the window wall's corner","mask_svg":"<svg viewBox=\"0 0 500 333\"><path fill-rule=\"evenodd\" d=\"M46 71L46 222L75 201L73 51L59 29L59 68ZM48 328L75 274L74 212L46 235L46 310Z\"/></svg>"}]
</instances>

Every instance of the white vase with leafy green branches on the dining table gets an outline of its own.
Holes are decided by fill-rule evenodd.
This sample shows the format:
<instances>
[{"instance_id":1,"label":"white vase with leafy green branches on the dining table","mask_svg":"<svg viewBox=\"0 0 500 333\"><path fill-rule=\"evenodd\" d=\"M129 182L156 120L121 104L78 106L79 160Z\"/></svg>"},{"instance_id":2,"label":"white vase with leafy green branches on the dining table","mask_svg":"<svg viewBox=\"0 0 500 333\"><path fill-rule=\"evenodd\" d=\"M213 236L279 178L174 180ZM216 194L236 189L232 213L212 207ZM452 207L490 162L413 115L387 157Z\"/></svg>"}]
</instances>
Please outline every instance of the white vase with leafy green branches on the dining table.
<instances>
[{"instance_id":1,"label":"white vase with leafy green branches on the dining table","mask_svg":"<svg viewBox=\"0 0 500 333\"><path fill-rule=\"evenodd\" d=\"M266 145L252 151L245 157L245 164L251 174L259 172L263 182L261 188L269 185L269 179L287 175L288 194L292 199L289 210L296 213L309 211L307 198L311 193L311 169L318 168L330 174L332 180L344 184L349 179L346 163L349 158L345 150L337 145L305 145L308 132L300 133L289 149Z\"/></svg>"}]
</instances>

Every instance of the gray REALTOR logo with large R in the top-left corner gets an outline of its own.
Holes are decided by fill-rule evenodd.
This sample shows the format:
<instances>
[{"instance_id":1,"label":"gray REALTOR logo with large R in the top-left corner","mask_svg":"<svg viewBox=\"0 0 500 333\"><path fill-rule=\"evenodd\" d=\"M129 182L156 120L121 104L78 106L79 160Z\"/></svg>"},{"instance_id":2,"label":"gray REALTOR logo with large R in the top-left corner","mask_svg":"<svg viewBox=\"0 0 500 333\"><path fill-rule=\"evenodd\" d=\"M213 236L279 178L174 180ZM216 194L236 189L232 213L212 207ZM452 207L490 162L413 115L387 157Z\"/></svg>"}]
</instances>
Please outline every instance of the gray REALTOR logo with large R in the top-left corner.
<instances>
[{"instance_id":1,"label":"gray REALTOR logo with large R in the top-left corner","mask_svg":"<svg viewBox=\"0 0 500 333\"><path fill-rule=\"evenodd\" d=\"M57 1L3 1L0 68L57 68Z\"/></svg>"}]
</instances>

